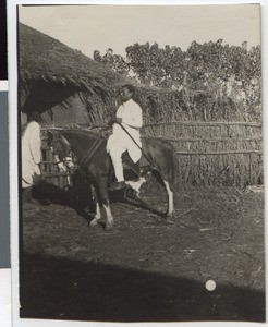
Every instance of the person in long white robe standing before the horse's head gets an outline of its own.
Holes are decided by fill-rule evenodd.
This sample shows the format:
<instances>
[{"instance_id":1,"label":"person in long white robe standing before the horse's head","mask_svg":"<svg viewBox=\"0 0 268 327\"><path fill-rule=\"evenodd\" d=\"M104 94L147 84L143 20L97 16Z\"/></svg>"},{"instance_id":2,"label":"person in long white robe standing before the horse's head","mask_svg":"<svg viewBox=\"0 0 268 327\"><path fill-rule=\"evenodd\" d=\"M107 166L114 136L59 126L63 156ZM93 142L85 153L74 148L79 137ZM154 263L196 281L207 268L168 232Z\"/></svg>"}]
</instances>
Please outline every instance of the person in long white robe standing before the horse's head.
<instances>
[{"instance_id":1,"label":"person in long white robe standing before the horse's head","mask_svg":"<svg viewBox=\"0 0 268 327\"><path fill-rule=\"evenodd\" d=\"M32 186L40 175L41 137L40 113L34 111L22 134L22 189L23 198L32 202Z\"/></svg>"}]
</instances>

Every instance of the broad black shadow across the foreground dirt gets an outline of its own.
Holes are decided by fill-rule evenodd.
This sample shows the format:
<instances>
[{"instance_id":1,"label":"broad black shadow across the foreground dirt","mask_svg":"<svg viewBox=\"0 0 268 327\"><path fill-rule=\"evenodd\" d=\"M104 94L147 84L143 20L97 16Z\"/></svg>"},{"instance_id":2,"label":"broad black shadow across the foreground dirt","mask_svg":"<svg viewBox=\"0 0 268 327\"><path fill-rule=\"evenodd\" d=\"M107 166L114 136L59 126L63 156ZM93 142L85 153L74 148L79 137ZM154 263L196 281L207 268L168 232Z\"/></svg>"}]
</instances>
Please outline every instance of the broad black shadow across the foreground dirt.
<instances>
[{"instance_id":1,"label":"broad black shadow across the foreground dirt","mask_svg":"<svg viewBox=\"0 0 268 327\"><path fill-rule=\"evenodd\" d=\"M265 294L231 284L209 292L194 280L38 255L25 255L22 267L22 318L265 320Z\"/></svg>"}]
</instances>

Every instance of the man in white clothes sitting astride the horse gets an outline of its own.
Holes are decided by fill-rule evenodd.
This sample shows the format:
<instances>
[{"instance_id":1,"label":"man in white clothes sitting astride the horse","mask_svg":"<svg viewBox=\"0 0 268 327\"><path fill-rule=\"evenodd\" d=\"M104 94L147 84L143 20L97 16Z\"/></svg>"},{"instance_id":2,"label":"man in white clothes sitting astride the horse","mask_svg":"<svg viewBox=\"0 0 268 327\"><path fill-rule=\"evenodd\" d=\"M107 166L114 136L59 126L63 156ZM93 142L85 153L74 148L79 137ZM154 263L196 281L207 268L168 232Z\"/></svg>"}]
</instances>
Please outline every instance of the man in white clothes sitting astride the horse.
<instances>
[{"instance_id":1,"label":"man in white clothes sitting astride the horse","mask_svg":"<svg viewBox=\"0 0 268 327\"><path fill-rule=\"evenodd\" d=\"M125 186L122 154L127 152L134 164L142 156L142 142L139 129L143 125L143 112L138 104L133 100L135 89L126 84L121 92L123 104L117 111L117 118L111 120L112 134L108 138L107 152L111 157L117 182L111 185L112 190L121 190Z\"/></svg>"}]
</instances>

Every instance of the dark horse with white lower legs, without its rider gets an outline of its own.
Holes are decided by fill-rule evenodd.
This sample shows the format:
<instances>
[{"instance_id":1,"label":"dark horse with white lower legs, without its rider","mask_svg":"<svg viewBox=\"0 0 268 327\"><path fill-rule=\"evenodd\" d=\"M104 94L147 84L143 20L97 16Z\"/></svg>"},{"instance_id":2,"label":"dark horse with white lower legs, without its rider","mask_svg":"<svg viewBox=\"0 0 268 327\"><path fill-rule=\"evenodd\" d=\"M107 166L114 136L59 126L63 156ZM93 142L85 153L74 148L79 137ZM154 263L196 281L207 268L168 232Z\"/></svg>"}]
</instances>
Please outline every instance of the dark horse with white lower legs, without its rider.
<instances>
[{"instance_id":1,"label":"dark horse with white lower legs, without its rider","mask_svg":"<svg viewBox=\"0 0 268 327\"><path fill-rule=\"evenodd\" d=\"M143 175L153 172L165 185L168 195L168 209L166 217L172 217L173 187L175 179L175 152L173 146L161 138L143 137L143 155L141 158L141 178L135 183L126 181L129 185L138 191L145 181ZM107 222L106 230L113 228L114 219L110 209L108 196L109 184L112 181L112 162L106 150L107 137L87 130L48 131L48 145L59 165L62 162L70 170L78 169L89 181L92 192L95 194L96 213L89 226L94 227L101 218L99 204L102 203Z\"/></svg>"}]
</instances>

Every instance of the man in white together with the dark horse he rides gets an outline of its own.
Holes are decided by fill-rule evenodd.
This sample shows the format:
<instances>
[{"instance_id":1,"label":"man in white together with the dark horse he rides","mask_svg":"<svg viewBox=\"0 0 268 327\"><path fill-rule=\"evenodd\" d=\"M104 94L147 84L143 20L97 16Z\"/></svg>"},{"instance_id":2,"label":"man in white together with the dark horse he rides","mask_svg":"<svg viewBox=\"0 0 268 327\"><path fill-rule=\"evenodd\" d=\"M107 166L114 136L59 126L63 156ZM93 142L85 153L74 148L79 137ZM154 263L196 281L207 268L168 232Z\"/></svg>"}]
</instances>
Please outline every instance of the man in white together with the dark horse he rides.
<instances>
[{"instance_id":1,"label":"man in white together with the dark horse he rides","mask_svg":"<svg viewBox=\"0 0 268 327\"><path fill-rule=\"evenodd\" d=\"M65 130L60 132L48 132L48 144L51 146L58 162L65 162L66 158L74 157L77 168L84 178L88 180L96 203L90 226L96 226L100 219L99 204L103 205L107 215L106 230L113 227L113 216L110 209L109 189L121 190L131 186L138 193L138 189L146 181L144 177L138 181L125 181L122 165L122 155L129 154L135 164L127 162L129 168L143 174L141 171L150 171L158 181L162 182L168 195L168 207L163 214L171 217L173 206L172 182L175 180L175 152L169 142L156 137L144 137L143 149L139 129L143 125L143 113L141 107L132 99L134 87L124 85L122 88L122 100L117 111L117 118L112 121L112 134L107 138L92 131ZM143 155L145 160L139 160ZM111 160L110 160L111 159ZM130 165L129 165L130 164ZM114 167L117 182L111 187L111 165ZM138 165L137 169L133 166ZM137 168L137 167L135 167ZM162 215L162 214L161 214Z\"/></svg>"}]
</instances>

